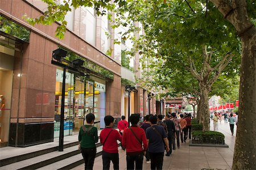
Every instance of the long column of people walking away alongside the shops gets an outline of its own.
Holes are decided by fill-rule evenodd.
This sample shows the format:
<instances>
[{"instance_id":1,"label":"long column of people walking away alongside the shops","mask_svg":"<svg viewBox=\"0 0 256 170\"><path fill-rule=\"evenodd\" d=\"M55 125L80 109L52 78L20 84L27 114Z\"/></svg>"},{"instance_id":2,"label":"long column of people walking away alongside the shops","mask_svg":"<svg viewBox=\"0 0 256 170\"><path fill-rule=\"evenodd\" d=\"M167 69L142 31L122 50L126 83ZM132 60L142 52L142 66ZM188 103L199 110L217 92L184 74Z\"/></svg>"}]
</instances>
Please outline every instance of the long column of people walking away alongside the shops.
<instances>
[{"instance_id":1,"label":"long column of people walking away alongside the shops","mask_svg":"<svg viewBox=\"0 0 256 170\"><path fill-rule=\"evenodd\" d=\"M105 116L105 128L100 133L102 143L103 169L110 169L110 162L114 169L119 169L118 142L121 142L123 150L126 150L127 169L142 169L143 158L150 163L151 169L162 169L164 152L166 156L172 154L172 150L180 148L181 142L191 138L191 115L185 118L183 115L177 119L176 113L163 115L147 115L139 126L140 115L131 114L129 117L131 126L122 116L118 122L118 130L113 129L114 117ZM96 157L96 143L98 142L97 128L93 126L94 114L86 115L86 124L81 126L79 141L81 153L85 161L85 169L93 169ZM177 141L177 142L175 142Z\"/></svg>"}]
</instances>

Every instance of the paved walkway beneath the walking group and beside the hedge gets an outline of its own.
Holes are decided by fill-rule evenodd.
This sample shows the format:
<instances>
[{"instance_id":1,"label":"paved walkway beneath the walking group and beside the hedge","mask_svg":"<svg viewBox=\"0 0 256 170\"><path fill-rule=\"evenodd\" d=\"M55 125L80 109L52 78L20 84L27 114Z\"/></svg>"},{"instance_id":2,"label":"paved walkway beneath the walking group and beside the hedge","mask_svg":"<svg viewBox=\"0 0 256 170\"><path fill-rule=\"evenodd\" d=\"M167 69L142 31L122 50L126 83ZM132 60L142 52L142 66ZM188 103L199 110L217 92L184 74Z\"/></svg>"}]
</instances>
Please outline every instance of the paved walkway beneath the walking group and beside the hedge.
<instances>
[{"instance_id":1,"label":"paved walkway beneath the walking group and beside the hedge","mask_svg":"<svg viewBox=\"0 0 256 170\"><path fill-rule=\"evenodd\" d=\"M213 130L212 122L210 122L210 126L210 130ZM236 126L232 136L229 124L225 124L224 120L222 120L222 122L219 122L218 131L225 135L225 143L229 145L229 148L197 147L189 146L188 142L181 143L181 147L173 150L170 157L164 156L163 169L231 169L236 140ZM82 170L84 169L84 164L73 169ZM93 169L102 169L101 156L95 159ZM113 164L110 165L110 169L113 169ZM119 150L119 169L126 169L126 153L121 149ZM146 164L146 159L143 160L143 169L150 169L150 164Z\"/></svg>"}]
</instances>

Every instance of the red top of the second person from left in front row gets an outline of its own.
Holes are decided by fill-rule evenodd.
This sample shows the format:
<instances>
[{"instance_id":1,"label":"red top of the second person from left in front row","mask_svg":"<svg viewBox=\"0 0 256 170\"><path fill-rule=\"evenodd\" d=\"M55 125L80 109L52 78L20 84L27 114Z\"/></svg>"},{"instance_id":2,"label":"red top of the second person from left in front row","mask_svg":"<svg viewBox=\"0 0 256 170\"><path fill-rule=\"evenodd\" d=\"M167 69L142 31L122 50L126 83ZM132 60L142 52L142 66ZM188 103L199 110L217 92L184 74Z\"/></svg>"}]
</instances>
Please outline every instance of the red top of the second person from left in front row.
<instances>
[{"instance_id":1,"label":"red top of the second person from left in front row","mask_svg":"<svg viewBox=\"0 0 256 170\"><path fill-rule=\"evenodd\" d=\"M102 144L104 143L106 137L108 136L109 132L112 129L113 128L105 128L105 129L101 130L100 140L101 140ZM121 134L119 134L119 132L117 130L114 129L109 134L108 139L106 139L105 145L103 146L102 150L105 152L109 152L109 153L118 153L117 140L122 142L122 136L121 136Z\"/></svg>"}]
</instances>

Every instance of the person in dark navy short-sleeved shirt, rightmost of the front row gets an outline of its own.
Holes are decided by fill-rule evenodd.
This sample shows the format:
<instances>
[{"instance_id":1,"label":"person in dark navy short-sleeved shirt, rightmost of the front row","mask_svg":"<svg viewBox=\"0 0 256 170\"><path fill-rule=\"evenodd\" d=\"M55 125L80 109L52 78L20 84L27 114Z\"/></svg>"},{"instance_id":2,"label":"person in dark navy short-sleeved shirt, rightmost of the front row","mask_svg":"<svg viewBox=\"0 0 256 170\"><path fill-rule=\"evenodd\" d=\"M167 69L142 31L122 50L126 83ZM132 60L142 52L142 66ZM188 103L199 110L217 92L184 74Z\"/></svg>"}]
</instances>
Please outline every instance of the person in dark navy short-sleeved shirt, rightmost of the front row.
<instances>
[{"instance_id":1,"label":"person in dark navy short-sleeved shirt, rightmost of the front row","mask_svg":"<svg viewBox=\"0 0 256 170\"><path fill-rule=\"evenodd\" d=\"M146 137L151 159L150 167L151 169L162 169L164 145L166 145L166 152L170 151L167 134L163 126L156 125L156 116L150 116L149 120L151 127L146 129Z\"/></svg>"}]
</instances>

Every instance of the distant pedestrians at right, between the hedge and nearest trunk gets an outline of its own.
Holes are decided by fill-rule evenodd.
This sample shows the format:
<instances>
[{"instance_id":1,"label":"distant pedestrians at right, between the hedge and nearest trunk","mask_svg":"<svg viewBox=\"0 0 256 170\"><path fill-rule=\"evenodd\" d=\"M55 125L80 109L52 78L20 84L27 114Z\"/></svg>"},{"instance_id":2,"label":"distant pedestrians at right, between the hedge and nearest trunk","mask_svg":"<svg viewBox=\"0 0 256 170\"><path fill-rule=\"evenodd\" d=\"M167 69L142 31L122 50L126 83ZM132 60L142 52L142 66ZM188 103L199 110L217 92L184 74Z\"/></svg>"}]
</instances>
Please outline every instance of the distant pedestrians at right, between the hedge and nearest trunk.
<instances>
[{"instance_id":1,"label":"distant pedestrians at right, between the hedge and nearest trunk","mask_svg":"<svg viewBox=\"0 0 256 170\"><path fill-rule=\"evenodd\" d=\"M230 126L230 131L231 134L234 135L234 125L237 125L238 122L238 115L237 113L235 114L236 117L234 117L234 113L229 113L228 111L226 111L225 113L217 113L214 112L214 116L212 116L211 113L211 118L213 120L213 130L216 131L218 130L218 120L222 120L222 116L224 117L224 122L228 123L229 122L229 126Z\"/></svg>"}]
</instances>

